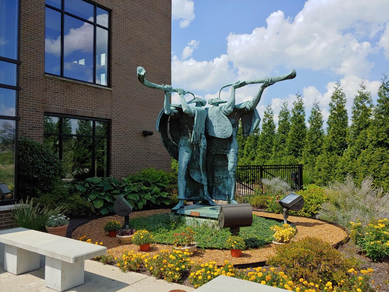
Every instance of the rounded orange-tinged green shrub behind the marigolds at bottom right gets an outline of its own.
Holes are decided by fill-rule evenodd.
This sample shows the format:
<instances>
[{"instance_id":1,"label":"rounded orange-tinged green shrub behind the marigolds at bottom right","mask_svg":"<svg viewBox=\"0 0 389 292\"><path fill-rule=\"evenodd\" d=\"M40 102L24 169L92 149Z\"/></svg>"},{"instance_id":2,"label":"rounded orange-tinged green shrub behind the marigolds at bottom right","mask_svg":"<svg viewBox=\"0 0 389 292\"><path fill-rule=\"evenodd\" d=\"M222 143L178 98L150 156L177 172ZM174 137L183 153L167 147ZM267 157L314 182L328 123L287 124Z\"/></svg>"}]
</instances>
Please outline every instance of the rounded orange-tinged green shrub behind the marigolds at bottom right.
<instances>
[{"instance_id":1,"label":"rounded orange-tinged green shrub behind the marigolds at bottom right","mask_svg":"<svg viewBox=\"0 0 389 292\"><path fill-rule=\"evenodd\" d=\"M280 267L293 280L303 278L317 283L325 279L338 283L347 278L350 268L359 267L355 258L345 258L341 252L315 237L277 246L276 252L266 264Z\"/></svg>"}]
</instances>

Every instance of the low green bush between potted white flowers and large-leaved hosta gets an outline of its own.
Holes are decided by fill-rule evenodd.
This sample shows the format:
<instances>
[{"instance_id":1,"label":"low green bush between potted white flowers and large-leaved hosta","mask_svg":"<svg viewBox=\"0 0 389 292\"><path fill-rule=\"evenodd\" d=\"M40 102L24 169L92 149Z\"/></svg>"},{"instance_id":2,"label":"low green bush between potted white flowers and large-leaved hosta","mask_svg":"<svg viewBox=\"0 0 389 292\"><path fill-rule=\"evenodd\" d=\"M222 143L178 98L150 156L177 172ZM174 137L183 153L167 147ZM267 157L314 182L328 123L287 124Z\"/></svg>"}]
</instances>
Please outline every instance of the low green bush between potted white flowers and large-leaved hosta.
<instances>
[{"instance_id":1,"label":"low green bush between potted white flowers and large-leaved hosta","mask_svg":"<svg viewBox=\"0 0 389 292\"><path fill-rule=\"evenodd\" d=\"M52 192L39 194L35 201L40 206L47 206L49 209L62 206L63 213L70 217L95 213L93 204L81 197L80 193L71 194L70 186L63 181L58 182Z\"/></svg>"}]
</instances>

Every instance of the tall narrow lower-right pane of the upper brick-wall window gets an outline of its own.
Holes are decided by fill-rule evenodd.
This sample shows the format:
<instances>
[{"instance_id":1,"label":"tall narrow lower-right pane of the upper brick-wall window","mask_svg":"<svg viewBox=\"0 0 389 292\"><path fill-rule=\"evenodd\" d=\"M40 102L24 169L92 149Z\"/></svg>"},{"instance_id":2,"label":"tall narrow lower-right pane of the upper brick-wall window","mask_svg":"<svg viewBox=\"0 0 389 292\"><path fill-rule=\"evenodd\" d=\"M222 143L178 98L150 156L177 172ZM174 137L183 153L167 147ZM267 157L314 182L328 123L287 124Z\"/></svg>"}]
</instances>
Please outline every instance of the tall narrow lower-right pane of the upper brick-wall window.
<instances>
[{"instance_id":1,"label":"tall narrow lower-right pane of the upper brick-wall window","mask_svg":"<svg viewBox=\"0 0 389 292\"><path fill-rule=\"evenodd\" d=\"M96 28L96 83L108 85L108 30Z\"/></svg>"}]
</instances>

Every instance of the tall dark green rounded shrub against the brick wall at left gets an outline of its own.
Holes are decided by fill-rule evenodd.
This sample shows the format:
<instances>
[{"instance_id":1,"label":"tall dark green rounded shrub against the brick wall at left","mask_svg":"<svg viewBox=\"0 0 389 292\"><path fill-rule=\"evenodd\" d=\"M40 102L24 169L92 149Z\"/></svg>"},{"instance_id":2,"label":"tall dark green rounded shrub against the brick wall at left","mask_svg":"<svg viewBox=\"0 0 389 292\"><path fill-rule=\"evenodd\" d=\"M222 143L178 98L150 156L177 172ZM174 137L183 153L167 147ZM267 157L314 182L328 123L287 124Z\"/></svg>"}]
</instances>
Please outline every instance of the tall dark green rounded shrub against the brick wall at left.
<instances>
[{"instance_id":1,"label":"tall dark green rounded shrub against the brick wall at left","mask_svg":"<svg viewBox=\"0 0 389 292\"><path fill-rule=\"evenodd\" d=\"M62 162L42 143L29 139L18 141L18 194L35 197L51 192L60 180Z\"/></svg>"}]
</instances>

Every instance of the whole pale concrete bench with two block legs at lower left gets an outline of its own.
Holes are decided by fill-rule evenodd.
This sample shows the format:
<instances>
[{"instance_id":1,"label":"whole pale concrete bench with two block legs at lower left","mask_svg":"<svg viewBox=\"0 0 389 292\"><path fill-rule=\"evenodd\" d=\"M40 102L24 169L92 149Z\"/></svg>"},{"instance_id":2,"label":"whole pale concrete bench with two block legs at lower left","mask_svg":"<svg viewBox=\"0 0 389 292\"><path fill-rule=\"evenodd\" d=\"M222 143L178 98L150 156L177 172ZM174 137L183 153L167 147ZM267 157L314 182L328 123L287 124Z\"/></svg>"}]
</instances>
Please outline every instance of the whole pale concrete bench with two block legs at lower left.
<instances>
[{"instance_id":1,"label":"whole pale concrete bench with two block legs at lower left","mask_svg":"<svg viewBox=\"0 0 389 292\"><path fill-rule=\"evenodd\" d=\"M39 269L39 255L46 256L45 283L64 291L84 283L84 261L105 255L107 248L26 228L0 231L5 244L4 270L21 274Z\"/></svg>"}]
</instances>

